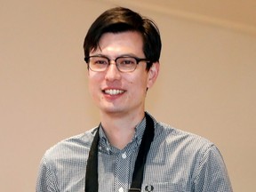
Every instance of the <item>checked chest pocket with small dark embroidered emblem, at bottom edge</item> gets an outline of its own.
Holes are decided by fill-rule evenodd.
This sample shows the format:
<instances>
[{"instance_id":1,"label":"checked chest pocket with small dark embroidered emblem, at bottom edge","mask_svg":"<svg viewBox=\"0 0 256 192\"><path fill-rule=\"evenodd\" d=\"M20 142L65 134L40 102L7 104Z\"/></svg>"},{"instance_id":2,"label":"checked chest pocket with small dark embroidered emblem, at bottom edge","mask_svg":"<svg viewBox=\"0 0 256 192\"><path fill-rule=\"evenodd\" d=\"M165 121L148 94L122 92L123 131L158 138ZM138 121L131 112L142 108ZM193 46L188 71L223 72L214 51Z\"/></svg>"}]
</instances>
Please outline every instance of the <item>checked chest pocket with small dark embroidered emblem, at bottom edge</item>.
<instances>
[{"instance_id":1,"label":"checked chest pocket with small dark embroidered emblem, at bottom edge","mask_svg":"<svg viewBox=\"0 0 256 192\"><path fill-rule=\"evenodd\" d=\"M161 182L161 183L151 183L144 185L142 191L152 191L152 192L184 192L184 186L182 183L171 183L171 182Z\"/></svg>"}]
</instances>

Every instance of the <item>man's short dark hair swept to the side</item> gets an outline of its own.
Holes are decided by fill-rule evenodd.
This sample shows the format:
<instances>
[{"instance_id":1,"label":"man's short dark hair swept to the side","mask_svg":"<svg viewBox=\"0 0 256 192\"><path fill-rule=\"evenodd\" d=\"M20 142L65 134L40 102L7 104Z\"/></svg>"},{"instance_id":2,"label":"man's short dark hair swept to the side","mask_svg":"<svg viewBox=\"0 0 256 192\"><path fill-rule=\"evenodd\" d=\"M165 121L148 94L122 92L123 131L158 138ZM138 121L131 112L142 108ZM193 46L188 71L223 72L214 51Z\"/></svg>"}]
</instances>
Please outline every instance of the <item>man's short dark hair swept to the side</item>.
<instances>
[{"instance_id":1,"label":"man's short dark hair swept to the side","mask_svg":"<svg viewBox=\"0 0 256 192\"><path fill-rule=\"evenodd\" d=\"M161 37L159 29L153 20L141 16L124 7L116 7L107 10L92 23L84 38L84 56L99 47L100 37L104 33L120 33L124 31L137 31L143 38L143 52L150 64L159 61L161 54Z\"/></svg>"}]
</instances>

